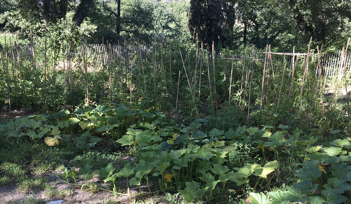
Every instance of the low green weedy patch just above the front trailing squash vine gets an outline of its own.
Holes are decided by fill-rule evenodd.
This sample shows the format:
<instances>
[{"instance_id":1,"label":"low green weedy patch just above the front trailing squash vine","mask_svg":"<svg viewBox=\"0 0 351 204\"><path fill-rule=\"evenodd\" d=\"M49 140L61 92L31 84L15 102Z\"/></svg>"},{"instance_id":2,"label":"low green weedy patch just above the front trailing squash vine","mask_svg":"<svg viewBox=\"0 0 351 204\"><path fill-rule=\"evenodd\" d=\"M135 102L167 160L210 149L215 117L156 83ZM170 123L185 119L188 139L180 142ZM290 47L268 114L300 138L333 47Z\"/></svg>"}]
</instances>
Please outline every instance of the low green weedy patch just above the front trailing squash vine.
<instances>
[{"instance_id":1,"label":"low green weedy patch just above the front trailing squash vine","mask_svg":"<svg viewBox=\"0 0 351 204\"><path fill-rule=\"evenodd\" d=\"M83 155L78 155L74 157L71 162L75 167L83 167L85 164L91 164L92 169L101 169L105 167L108 163L120 163L122 157L119 153L107 154L98 151L89 151Z\"/></svg>"}]
</instances>

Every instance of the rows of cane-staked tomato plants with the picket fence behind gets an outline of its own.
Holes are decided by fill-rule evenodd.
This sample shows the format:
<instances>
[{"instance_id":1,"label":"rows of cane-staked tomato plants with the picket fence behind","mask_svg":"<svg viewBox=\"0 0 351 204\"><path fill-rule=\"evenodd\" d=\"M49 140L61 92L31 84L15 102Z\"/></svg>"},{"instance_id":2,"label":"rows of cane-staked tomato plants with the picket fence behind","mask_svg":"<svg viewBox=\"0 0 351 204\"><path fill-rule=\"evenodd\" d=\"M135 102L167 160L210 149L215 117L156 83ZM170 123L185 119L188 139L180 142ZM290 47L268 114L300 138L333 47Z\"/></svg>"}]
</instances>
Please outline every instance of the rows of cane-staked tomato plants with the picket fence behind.
<instances>
[{"instance_id":1,"label":"rows of cane-staked tomato plants with the picket fence behind","mask_svg":"<svg viewBox=\"0 0 351 204\"><path fill-rule=\"evenodd\" d=\"M324 94L331 86L334 104L340 89L348 97L349 42L335 53L323 53L322 47L310 45L307 53L295 49L292 53L272 52L270 45L265 50L252 46L216 53L213 45L207 50L198 41L179 48L172 47L171 42L141 45L123 41L112 45L88 44L84 39L73 44L67 36L33 39L19 43L17 36L7 35L0 51L0 100L8 108L29 108L24 102L29 98L35 106L46 106L53 87L64 87L65 94L74 95L78 85L85 87L85 104L97 95L101 100L117 102L116 94L124 93L130 103L137 102L136 98L167 95L171 96L167 103L174 109L180 106L180 99L191 100L197 115L207 99L214 112L219 104L229 103L249 115L251 109L262 110L271 103L277 113L283 94L302 103L313 93L320 99L314 107L322 111ZM65 100L61 107L72 109L79 105L76 103Z\"/></svg>"}]
</instances>

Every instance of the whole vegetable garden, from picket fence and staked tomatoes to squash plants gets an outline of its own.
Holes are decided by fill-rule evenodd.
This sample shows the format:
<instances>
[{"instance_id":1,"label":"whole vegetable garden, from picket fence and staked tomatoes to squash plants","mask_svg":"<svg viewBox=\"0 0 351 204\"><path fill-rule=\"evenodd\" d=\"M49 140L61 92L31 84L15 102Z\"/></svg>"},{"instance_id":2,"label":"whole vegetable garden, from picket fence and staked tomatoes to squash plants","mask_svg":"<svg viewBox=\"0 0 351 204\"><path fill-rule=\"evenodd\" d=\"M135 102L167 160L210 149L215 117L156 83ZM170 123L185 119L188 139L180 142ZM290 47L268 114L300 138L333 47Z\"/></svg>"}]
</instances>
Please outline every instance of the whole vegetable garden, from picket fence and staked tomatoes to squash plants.
<instances>
[{"instance_id":1,"label":"whole vegetable garden, from picket fence and staked tomatoes to squash plants","mask_svg":"<svg viewBox=\"0 0 351 204\"><path fill-rule=\"evenodd\" d=\"M4 37L0 103L28 114L1 121L1 185L113 196L102 203L351 196L350 40L279 53L195 33L187 45Z\"/></svg>"}]
</instances>

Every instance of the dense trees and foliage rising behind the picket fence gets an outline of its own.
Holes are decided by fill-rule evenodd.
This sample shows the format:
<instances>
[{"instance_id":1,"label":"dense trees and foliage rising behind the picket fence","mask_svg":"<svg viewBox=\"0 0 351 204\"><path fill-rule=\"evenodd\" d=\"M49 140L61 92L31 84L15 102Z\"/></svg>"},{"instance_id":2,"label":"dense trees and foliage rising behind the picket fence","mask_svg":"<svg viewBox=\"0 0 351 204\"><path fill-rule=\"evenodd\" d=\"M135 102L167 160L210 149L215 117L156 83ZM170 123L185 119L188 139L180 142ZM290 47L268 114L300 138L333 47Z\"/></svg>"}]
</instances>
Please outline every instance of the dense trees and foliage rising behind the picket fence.
<instances>
[{"instance_id":1,"label":"dense trees and foliage rising behind the picket fence","mask_svg":"<svg viewBox=\"0 0 351 204\"><path fill-rule=\"evenodd\" d=\"M344 0L5 0L0 27L24 38L32 29L35 36L82 35L94 43L181 43L197 33L205 46L271 44L291 52L305 49L310 37L325 48L341 47L351 36L350 8Z\"/></svg>"}]
</instances>

